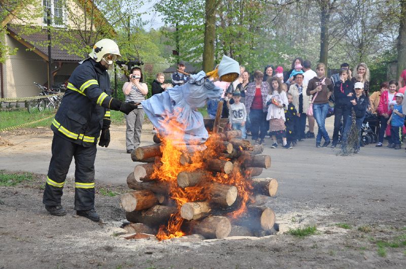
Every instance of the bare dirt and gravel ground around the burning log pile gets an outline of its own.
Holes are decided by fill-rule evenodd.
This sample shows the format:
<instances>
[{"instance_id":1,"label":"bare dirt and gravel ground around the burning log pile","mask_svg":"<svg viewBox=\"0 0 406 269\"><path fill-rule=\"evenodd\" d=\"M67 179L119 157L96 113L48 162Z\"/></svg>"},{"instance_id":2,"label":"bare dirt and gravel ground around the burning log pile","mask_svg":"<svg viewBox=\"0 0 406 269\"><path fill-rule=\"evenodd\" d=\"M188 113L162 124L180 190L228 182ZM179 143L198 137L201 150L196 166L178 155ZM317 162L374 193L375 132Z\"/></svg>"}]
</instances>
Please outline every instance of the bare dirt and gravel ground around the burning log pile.
<instances>
[{"instance_id":1,"label":"bare dirt and gravel ground around the burning log pile","mask_svg":"<svg viewBox=\"0 0 406 269\"><path fill-rule=\"evenodd\" d=\"M331 118L327 126L331 135ZM55 217L45 211L49 129L0 133L0 170L36 173L30 182L0 187L0 268L406 267L404 149L367 145L358 155L341 157L337 150L315 148L315 139L292 150L270 149L267 140L264 153L272 157L272 167L261 177L279 182L269 205L277 215L278 235L125 240L119 235L125 217L118 194L127 190L126 176L137 163L125 153L125 126L113 129L111 145L98 148L95 164L99 223L75 216L74 167L62 198L69 213ZM151 126L144 129L142 144L150 144ZM309 225L317 226L315 235L298 238L287 232Z\"/></svg>"}]
</instances>

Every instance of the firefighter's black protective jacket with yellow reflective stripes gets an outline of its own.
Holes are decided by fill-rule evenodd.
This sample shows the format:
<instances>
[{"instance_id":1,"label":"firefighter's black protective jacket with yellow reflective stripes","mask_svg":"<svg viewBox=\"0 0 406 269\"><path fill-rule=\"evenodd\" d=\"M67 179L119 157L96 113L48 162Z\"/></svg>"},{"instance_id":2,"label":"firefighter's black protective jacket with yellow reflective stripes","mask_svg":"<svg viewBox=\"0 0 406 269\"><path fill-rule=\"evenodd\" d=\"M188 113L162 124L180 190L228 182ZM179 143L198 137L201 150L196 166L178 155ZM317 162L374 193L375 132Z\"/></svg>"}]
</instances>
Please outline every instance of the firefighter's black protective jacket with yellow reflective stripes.
<instances>
[{"instance_id":1,"label":"firefighter's black protective jacket with yellow reflective stripes","mask_svg":"<svg viewBox=\"0 0 406 269\"><path fill-rule=\"evenodd\" d=\"M103 119L110 120L110 95L107 70L91 58L84 60L69 78L51 129L84 147L97 144Z\"/></svg>"}]
</instances>

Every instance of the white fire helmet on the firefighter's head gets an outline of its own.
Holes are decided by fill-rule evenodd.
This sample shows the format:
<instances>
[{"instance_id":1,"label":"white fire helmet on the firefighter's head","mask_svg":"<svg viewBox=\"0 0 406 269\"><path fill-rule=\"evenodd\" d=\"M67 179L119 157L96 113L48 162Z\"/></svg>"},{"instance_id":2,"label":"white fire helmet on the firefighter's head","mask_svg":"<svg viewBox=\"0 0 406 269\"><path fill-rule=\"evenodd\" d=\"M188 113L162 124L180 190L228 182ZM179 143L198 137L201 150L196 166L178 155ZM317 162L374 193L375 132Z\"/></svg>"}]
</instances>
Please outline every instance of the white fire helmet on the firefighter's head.
<instances>
[{"instance_id":1,"label":"white fire helmet on the firefighter's head","mask_svg":"<svg viewBox=\"0 0 406 269\"><path fill-rule=\"evenodd\" d=\"M103 59L110 67L112 67L113 62L118 57L121 57L121 54L117 44L114 41L111 39L102 39L93 45L92 52L89 54L89 56L96 62L100 62Z\"/></svg>"}]
</instances>

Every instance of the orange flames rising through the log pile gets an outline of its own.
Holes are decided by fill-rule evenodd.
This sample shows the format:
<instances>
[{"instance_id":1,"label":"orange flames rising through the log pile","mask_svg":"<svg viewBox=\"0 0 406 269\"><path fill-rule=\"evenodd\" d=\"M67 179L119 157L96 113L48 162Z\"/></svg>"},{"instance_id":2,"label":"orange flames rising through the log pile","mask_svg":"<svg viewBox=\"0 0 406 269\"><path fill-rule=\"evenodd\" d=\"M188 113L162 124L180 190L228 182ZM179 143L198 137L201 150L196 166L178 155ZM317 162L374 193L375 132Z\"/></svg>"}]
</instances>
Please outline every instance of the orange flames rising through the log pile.
<instances>
[{"instance_id":1,"label":"orange flames rising through the log pile","mask_svg":"<svg viewBox=\"0 0 406 269\"><path fill-rule=\"evenodd\" d=\"M210 146L210 139L206 142L208 148L204 151L195 151L190 154L192 160L191 164L181 165L179 159L182 153L187 152L187 147L184 141L184 132L186 124L179 123L175 117L166 117L164 120L165 129L167 135L161 138L161 152L162 165L156 166L152 175L153 178L159 178L159 180L170 183L169 196L177 204L178 212L171 215L167 225L159 227L156 235L158 240L176 238L185 236L186 233L182 231L182 224L184 219L180 215L180 209L183 204L194 201L209 201L210 200L210 181L217 181L219 183L235 185L238 188L239 200L241 205L238 210L229 214L232 219L240 216L246 211L246 203L252 194L252 186L247 178L250 178L250 174L243 174L239 167L234 167L233 171L227 174L217 173L207 181L193 187L181 188L177 183L177 176L182 171L194 171L196 169L204 169L206 167L206 160L210 159L222 159L228 161L229 159L224 157L218 157L218 153L215 147ZM197 144L197 143L196 143ZM189 145L190 146L190 145ZM193 146L193 145L192 145Z\"/></svg>"}]
</instances>

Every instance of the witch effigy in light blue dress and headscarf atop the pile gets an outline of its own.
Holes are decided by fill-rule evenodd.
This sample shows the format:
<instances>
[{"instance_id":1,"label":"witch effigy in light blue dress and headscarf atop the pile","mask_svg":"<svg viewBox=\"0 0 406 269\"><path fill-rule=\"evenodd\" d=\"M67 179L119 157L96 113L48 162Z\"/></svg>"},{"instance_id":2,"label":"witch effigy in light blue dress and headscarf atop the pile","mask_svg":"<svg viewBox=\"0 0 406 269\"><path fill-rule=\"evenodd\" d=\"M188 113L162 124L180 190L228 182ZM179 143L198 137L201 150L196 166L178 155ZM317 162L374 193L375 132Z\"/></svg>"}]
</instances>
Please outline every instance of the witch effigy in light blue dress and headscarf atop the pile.
<instances>
[{"instance_id":1,"label":"witch effigy in light blue dress and headscarf atop the pile","mask_svg":"<svg viewBox=\"0 0 406 269\"><path fill-rule=\"evenodd\" d=\"M204 107L209 99L220 101L223 93L210 79L233 82L239 75L240 64L224 55L215 70L191 75L186 84L155 94L142 105L161 137L178 132L189 151L204 150L209 133L197 108Z\"/></svg>"}]
</instances>

